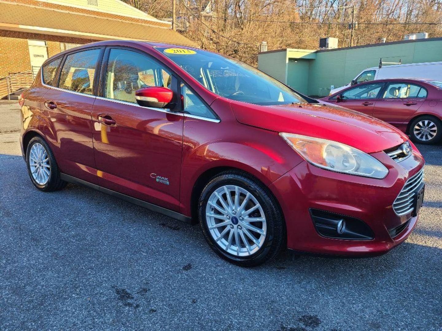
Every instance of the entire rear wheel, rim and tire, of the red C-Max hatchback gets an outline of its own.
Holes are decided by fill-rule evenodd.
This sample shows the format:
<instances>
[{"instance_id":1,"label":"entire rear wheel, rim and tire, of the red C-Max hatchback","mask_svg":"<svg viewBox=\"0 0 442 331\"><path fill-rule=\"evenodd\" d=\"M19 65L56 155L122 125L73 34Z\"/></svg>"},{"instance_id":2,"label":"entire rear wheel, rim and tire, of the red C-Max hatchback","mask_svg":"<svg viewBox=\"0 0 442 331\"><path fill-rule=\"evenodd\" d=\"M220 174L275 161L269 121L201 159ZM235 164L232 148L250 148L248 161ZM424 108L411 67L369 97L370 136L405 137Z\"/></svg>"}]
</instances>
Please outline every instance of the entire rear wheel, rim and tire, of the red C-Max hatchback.
<instances>
[{"instance_id":1,"label":"entire rear wheel, rim and tire, of the red C-Max hatchback","mask_svg":"<svg viewBox=\"0 0 442 331\"><path fill-rule=\"evenodd\" d=\"M41 191L57 191L66 186L60 178L57 162L48 143L39 136L32 138L26 150L29 177Z\"/></svg>"}]
</instances>

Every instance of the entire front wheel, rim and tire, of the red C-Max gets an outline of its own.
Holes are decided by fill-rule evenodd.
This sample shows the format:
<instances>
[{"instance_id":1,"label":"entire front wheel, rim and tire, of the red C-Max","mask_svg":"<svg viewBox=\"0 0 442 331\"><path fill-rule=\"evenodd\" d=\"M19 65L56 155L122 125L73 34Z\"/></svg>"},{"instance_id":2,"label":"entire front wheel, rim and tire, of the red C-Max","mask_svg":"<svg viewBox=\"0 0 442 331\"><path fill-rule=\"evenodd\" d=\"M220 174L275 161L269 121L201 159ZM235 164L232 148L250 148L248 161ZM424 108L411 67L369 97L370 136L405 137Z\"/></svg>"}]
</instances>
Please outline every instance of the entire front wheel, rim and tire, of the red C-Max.
<instances>
[{"instance_id":1,"label":"entire front wheel, rim and tire, of the red C-Max","mask_svg":"<svg viewBox=\"0 0 442 331\"><path fill-rule=\"evenodd\" d=\"M283 246L283 220L268 189L249 175L229 171L204 188L200 223L207 242L229 262L250 267L276 256Z\"/></svg>"}]
</instances>

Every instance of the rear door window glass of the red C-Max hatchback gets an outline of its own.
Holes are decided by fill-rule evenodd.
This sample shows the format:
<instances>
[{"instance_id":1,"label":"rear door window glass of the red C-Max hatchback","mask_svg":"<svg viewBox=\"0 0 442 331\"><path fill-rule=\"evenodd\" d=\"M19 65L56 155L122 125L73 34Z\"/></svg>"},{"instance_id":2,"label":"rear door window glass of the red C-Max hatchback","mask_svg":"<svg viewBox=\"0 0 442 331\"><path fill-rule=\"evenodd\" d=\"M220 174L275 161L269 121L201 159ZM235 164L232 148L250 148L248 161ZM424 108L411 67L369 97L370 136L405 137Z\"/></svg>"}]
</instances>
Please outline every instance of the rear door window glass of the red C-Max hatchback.
<instances>
[{"instance_id":1,"label":"rear door window glass of the red C-Max hatchback","mask_svg":"<svg viewBox=\"0 0 442 331\"><path fill-rule=\"evenodd\" d=\"M69 54L61 69L59 87L74 92L93 94L95 67L100 49Z\"/></svg>"}]
</instances>

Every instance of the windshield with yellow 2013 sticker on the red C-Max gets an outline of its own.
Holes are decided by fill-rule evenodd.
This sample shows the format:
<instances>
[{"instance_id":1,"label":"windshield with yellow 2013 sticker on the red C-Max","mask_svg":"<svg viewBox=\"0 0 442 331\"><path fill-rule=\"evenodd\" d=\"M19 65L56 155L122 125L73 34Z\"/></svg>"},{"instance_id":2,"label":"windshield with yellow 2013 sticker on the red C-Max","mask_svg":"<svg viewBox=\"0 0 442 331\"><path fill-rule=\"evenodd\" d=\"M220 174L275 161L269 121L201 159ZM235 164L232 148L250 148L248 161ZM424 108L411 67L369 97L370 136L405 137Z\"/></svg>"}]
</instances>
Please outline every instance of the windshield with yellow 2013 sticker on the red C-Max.
<instances>
[{"instance_id":1,"label":"windshield with yellow 2013 sticker on the red C-Max","mask_svg":"<svg viewBox=\"0 0 442 331\"><path fill-rule=\"evenodd\" d=\"M306 102L299 94L248 64L201 49L157 47L206 89L256 105Z\"/></svg>"}]
</instances>

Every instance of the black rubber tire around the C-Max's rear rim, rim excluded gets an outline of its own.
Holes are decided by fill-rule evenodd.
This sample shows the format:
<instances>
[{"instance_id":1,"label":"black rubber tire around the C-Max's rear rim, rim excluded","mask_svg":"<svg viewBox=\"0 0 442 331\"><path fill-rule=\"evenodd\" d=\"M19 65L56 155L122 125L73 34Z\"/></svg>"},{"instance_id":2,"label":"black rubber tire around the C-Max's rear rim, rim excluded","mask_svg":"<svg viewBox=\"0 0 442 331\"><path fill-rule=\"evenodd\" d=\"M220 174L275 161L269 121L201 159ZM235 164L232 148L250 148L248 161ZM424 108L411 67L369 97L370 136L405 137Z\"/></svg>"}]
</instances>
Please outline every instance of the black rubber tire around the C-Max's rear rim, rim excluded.
<instances>
[{"instance_id":1,"label":"black rubber tire around the C-Max's rear rim, rim excluded","mask_svg":"<svg viewBox=\"0 0 442 331\"><path fill-rule=\"evenodd\" d=\"M49 165L50 165L50 173L49 173L49 179L44 184L39 184L32 175L31 165L30 165L30 150L34 144L40 144L46 151L48 158L49 158ZM38 145L37 145L38 146ZM50 191L58 191L61 190L66 186L66 182L63 181L60 178L60 170L58 169L57 161L55 161L55 157L52 153L52 150L50 149L48 143L39 136L36 136L32 138L27 146L26 149L26 165L29 173L30 180L32 181L32 184L36 188L38 188L40 191L44 192L50 192Z\"/></svg>"}]
</instances>

